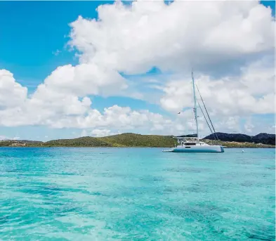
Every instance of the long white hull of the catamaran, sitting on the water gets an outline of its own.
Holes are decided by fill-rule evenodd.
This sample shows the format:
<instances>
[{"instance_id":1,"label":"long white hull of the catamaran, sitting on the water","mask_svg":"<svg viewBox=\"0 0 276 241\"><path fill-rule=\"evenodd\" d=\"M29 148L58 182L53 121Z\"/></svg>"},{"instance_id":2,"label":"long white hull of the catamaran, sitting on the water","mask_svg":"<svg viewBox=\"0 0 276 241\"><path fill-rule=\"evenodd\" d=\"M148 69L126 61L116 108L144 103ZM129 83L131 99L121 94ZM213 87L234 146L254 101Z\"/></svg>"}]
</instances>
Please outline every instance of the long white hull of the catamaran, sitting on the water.
<instances>
[{"instance_id":1,"label":"long white hull of the catamaran, sitting on the water","mask_svg":"<svg viewBox=\"0 0 276 241\"><path fill-rule=\"evenodd\" d=\"M221 145L195 145L195 146L182 146L178 145L172 148L171 152L224 152Z\"/></svg>"}]
</instances>

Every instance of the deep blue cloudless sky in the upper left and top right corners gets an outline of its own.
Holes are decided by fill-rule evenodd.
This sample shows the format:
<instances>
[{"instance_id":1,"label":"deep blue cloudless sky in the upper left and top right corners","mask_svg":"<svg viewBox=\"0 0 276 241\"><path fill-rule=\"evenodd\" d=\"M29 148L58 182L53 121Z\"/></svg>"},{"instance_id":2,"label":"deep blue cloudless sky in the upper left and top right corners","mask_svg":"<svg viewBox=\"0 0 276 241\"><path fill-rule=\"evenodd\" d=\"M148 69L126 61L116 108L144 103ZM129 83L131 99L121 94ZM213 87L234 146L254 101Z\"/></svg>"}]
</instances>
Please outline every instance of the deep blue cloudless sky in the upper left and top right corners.
<instances>
[{"instance_id":1,"label":"deep blue cloudless sky in the upper left and top right corners","mask_svg":"<svg viewBox=\"0 0 276 241\"><path fill-rule=\"evenodd\" d=\"M69 23L79 15L98 18L96 8L107 3L112 1L0 1L0 21L6 23L0 25L0 68L32 91L55 67L77 64L66 48ZM275 15L275 1L261 3Z\"/></svg>"}]
</instances>

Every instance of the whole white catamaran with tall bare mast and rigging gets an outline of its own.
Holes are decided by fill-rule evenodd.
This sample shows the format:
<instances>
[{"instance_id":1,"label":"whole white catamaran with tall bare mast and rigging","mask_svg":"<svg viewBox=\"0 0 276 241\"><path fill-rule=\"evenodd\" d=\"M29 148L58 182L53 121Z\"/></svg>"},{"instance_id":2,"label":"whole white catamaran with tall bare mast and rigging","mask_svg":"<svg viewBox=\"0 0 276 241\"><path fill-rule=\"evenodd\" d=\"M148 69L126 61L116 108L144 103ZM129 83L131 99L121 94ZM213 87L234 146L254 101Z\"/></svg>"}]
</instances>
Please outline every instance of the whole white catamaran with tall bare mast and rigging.
<instances>
[{"instance_id":1,"label":"whole white catamaran with tall bare mast and rigging","mask_svg":"<svg viewBox=\"0 0 276 241\"><path fill-rule=\"evenodd\" d=\"M192 89L194 94L194 105L195 105L194 112L195 112L195 123L197 125L197 133L191 134L191 135L176 136L175 138L178 141L178 145L175 148L171 148L170 150L163 150L163 152L224 152L223 146L221 145L209 145L207 143L204 143L203 141L199 141L198 121L197 121L197 97L195 95L195 80L194 80L193 73L192 73ZM202 98L202 96L200 97ZM202 103L204 104L203 100L202 100ZM199 105L199 108L202 110L200 105ZM204 105L204 108L205 108L205 105ZM206 113L209 117L207 110L206 110ZM202 114L204 115L203 110L202 110ZM213 128L213 131L211 129L211 126L213 127L213 124L211 123L211 126L210 126L205 115L204 115L204 118L209 126L209 129L211 130L211 132L213 133L216 139L217 136L215 135L216 134L215 129ZM209 120L211 122L210 117L209 117ZM194 138L194 139L188 140L188 138Z\"/></svg>"}]
</instances>

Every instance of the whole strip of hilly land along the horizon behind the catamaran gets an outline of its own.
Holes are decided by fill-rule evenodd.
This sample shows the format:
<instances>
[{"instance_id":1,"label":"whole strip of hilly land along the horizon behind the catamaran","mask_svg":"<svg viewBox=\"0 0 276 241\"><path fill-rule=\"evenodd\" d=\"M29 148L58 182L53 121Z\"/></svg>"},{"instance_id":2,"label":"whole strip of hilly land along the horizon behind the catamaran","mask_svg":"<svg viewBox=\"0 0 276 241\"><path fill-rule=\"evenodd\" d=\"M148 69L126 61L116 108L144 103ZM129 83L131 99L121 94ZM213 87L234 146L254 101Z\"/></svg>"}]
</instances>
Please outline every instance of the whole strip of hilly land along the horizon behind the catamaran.
<instances>
[{"instance_id":1,"label":"whole strip of hilly land along the horizon behind the catamaran","mask_svg":"<svg viewBox=\"0 0 276 241\"><path fill-rule=\"evenodd\" d=\"M217 133L206 136L201 141L209 145L223 145L225 148L275 148L275 135L259 133L256 136L244 134ZM274 145L272 145L274 143ZM6 140L0 141L0 147L22 148L172 148L177 144L173 136L140 135L136 133L122 133L114 136L91 137L84 136L73 139L58 139L53 141Z\"/></svg>"}]
</instances>

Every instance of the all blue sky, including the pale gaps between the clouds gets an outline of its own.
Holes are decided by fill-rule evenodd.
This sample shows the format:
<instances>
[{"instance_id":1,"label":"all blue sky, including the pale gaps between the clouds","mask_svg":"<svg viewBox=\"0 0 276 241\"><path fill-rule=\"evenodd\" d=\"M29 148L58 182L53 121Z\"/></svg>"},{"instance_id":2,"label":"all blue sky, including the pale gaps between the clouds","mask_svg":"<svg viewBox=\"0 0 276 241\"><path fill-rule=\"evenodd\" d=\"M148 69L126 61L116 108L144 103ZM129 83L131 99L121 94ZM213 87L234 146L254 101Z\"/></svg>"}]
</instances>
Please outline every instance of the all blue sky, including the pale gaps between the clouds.
<instances>
[{"instance_id":1,"label":"all blue sky, including the pale gaps between the clouds","mask_svg":"<svg viewBox=\"0 0 276 241\"><path fill-rule=\"evenodd\" d=\"M0 69L13 73L16 82L26 86L28 93L34 93L37 86L56 67L77 65L75 51L67 47L70 34L69 23L83 18L98 18L96 8L107 1L0 1ZM261 1L272 8L275 16L275 1ZM58 52L57 52L58 51ZM150 72L128 76L126 79L161 77L165 72L152 67ZM147 92L145 86L139 87ZM158 91L157 91L158 92ZM112 105L129 106L133 110L149 110L172 117L170 112L155 103L130 97L90 96L93 108L100 112ZM270 117L270 122L273 117ZM46 139L70 138L79 134L79 129L51 129L46 126L0 126L0 136Z\"/></svg>"}]
</instances>

